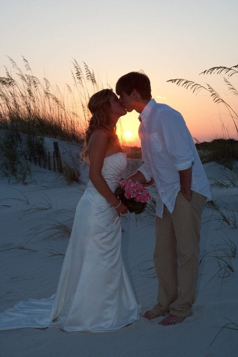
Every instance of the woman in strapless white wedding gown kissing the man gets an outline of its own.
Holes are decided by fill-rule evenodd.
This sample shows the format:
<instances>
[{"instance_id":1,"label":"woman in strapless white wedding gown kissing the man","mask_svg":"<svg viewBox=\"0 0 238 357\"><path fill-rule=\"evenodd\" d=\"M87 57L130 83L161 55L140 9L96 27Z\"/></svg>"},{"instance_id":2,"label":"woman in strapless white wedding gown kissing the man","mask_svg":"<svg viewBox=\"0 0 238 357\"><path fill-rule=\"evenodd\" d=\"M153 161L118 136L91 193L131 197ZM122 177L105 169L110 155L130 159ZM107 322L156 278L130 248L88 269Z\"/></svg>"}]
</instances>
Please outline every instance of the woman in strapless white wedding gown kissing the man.
<instances>
[{"instance_id":1,"label":"woman in strapless white wedding gown kissing the man","mask_svg":"<svg viewBox=\"0 0 238 357\"><path fill-rule=\"evenodd\" d=\"M56 294L21 301L0 314L0 330L58 327L65 331L112 331L140 318L121 257L120 220L127 207L114 195L127 159L116 136L126 114L111 89L93 94L82 156L89 182L75 213Z\"/></svg>"}]
</instances>

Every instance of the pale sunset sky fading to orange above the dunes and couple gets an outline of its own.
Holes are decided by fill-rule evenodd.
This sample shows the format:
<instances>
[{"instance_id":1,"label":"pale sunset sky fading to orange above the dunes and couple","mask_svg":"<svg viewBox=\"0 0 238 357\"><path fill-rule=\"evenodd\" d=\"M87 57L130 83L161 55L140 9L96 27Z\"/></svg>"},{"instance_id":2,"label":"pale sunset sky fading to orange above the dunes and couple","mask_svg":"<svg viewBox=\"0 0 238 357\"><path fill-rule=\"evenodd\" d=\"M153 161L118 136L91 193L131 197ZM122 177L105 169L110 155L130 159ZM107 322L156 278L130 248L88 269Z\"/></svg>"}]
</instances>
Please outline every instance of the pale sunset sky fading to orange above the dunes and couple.
<instances>
[{"instance_id":1,"label":"pale sunset sky fading to orange above the dunes and couple","mask_svg":"<svg viewBox=\"0 0 238 357\"><path fill-rule=\"evenodd\" d=\"M221 119L234 137L225 109L206 92L194 96L166 81L207 82L237 111L237 97L227 92L222 76L199 76L214 66L237 65L237 14L238 1L225 0L4 1L0 76L4 65L9 67L6 55L20 66L24 56L37 78L57 83L62 92L66 83L72 85L73 58L82 67L86 62L98 83L113 89L120 76L142 69L151 80L152 97L181 112L193 137L204 141L222 135ZM238 78L231 79L238 88ZM137 117L132 112L121 122L138 145Z\"/></svg>"}]
</instances>

